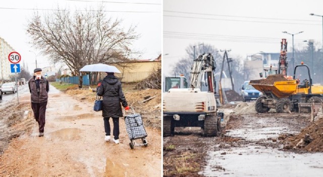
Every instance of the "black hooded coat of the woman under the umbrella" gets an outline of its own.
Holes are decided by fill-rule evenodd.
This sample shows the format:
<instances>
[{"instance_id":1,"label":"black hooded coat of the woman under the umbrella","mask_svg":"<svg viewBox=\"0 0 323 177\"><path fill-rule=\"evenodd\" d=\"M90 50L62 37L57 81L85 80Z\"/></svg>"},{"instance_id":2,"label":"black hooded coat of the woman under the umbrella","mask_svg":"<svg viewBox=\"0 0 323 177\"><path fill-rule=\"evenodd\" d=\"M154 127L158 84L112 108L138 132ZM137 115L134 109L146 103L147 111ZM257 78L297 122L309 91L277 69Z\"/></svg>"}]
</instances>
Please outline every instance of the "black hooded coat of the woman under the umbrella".
<instances>
[{"instance_id":1,"label":"black hooded coat of the woman under the umbrella","mask_svg":"<svg viewBox=\"0 0 323 177\"><path fill-rule=\"evenodd\" d=\"M121 82L114 75L108 75L103 80L97 90L98 96L103 96L102 117L122 117L123 107L128 103L122 92ZM121 104L120 104L121 102Z\"/></svg>"}]
</instances>

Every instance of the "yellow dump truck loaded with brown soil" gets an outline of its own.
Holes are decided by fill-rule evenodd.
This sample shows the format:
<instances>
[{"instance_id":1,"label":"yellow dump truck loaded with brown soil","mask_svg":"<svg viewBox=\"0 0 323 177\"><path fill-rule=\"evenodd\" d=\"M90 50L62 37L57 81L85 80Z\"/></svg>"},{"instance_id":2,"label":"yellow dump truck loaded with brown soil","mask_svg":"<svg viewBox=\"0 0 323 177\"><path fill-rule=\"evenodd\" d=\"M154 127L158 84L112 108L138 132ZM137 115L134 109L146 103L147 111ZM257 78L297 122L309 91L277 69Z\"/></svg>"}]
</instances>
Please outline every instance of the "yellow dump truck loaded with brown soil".
<instances>
[{"instance_id":1,"label":"yellow dump truck loaded with brown soil","mask_svg":"<svg viewBox=\"0 0 323 177\"><path fill-rule=\"evenodd\" d=\"M296 78L296 71L299 68L307 69L308 73L308 79L302 82ZM287 79L283 74L275 74L266 79L250 80L249 84L263 93L255 103L255 110L258 113L268 112L270 108L276 109L277 113L298 112L302 104L322 103L323 99L323 86L312 83L310 70L306 64L295 66L293 79Z\"/></svg>"}]
</instances>

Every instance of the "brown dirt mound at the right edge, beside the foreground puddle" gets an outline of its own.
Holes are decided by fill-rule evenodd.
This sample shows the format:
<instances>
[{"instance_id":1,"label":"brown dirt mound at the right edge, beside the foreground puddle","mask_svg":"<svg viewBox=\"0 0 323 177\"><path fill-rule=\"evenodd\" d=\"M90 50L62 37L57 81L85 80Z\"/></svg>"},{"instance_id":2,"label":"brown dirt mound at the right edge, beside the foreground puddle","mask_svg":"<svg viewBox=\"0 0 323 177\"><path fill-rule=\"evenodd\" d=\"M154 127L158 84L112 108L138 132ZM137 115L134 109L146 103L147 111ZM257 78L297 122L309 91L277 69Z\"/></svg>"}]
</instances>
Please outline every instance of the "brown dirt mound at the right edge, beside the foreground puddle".
<instances>
[{"instance_id":1,"label":"brown dirt mound at the right edge, beside the foreground puddle","mask_svg":"<svg viewBox=\"0 0 323 177\"><path fill-rule=\"evenodd\" d=\"M311 123L296 136L280 136L285 139L284 149L300 149L309 152L323 152L323 119Z\"/></svg>"}]
</instances>

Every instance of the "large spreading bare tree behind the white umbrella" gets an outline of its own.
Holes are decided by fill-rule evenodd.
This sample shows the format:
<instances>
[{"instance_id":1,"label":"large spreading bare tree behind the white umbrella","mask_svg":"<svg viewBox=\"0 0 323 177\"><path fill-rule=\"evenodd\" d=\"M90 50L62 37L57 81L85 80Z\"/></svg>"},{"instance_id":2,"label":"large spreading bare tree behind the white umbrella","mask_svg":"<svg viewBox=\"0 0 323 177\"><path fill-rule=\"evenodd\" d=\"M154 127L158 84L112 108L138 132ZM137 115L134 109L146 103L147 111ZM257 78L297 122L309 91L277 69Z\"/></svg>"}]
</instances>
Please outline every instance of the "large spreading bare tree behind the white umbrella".
<instances>
[{"instance_id":1,"label":"large spreading bare tree behind the white umbrella","mask_svg":"<svg viewBox=\"0 0 323 177\"><path fill-rule=\"evenodd\" d=\"M125 52L132 52L130 46L139 37L136 27L125 30L121 22L107 18L103 7L74 13L58 10L42 16L36 13L29 21L27 33L32 44L51 62L64 62L73 75L80 75L80 68L86 64L122 61ZM80 76L79 87L82 82Z\"/></svg>"}]
</instances>

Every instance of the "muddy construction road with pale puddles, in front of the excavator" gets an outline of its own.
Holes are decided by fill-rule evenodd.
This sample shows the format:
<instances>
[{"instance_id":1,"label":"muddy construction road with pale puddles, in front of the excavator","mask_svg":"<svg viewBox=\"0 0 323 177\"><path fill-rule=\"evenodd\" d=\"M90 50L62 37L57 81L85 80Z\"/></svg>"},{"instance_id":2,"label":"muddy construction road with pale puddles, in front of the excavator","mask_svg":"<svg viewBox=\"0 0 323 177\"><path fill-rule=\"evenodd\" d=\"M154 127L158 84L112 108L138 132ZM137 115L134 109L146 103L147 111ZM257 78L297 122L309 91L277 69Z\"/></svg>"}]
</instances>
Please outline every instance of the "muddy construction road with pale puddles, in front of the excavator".
<instances>
[{"instance_id":1,"label":"muddy construction road with pale puddles, in front of the excavator","mask_svg":"<svg viewBox=\"0 0 323 177\"><path fill-rule=\"evenodd\" d=\"M249 103L248 103L249 104ZM165 176L321 176L323 153L284 149L282 135L294 136L310 124L308 114L235 114L219 137L177 129L164 137ZM184 159L184 160L183 160ZM180 165L184 161L185 165Z\"/></svg>"}]
</instances>

